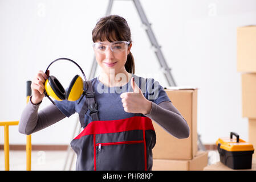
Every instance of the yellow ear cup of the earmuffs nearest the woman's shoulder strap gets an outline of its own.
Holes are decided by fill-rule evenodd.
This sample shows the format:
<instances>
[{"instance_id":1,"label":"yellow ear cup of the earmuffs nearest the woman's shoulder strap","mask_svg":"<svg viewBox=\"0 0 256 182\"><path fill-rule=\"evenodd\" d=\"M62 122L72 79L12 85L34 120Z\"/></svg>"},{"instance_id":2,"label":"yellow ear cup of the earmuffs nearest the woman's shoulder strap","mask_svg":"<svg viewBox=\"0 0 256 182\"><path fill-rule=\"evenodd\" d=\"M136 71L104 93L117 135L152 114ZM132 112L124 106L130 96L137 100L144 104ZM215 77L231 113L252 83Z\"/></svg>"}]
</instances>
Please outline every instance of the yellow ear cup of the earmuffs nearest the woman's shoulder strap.
<instances>
[{"instance_id":1,"label":"yellow ear cup of the earmuffs nearest the woman's shoulder strap","mask_svg":"<svg viewBox=\"0 0 256 182\"><path fill-rule=\"evenodd\" d=\"M70 82L70 86L67 88L66 100L76 101L78 100L83 93L83 79L76 75Z\"/></svg>"}]
</instances>

